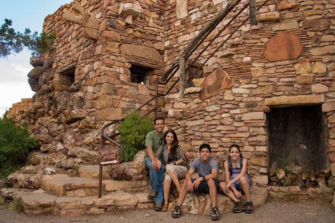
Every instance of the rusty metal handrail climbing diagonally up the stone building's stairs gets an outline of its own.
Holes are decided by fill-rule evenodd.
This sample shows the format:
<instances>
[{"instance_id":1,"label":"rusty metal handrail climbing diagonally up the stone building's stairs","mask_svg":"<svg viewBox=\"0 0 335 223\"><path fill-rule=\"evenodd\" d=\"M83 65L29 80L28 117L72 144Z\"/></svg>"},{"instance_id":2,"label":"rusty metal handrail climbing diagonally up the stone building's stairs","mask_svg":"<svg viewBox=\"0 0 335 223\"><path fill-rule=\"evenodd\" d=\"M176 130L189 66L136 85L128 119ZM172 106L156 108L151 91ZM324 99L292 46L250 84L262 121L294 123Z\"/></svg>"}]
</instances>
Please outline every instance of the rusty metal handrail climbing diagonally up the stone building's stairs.
<instances>
[{"instance_id":1,"label":"rusty metal handrail climbing diagonally up the stone building's stairs","mask_svg":"<svg viewBox=\"0 0 335 223\"><path fill-rule=\"evenodd\" d=\"M236 6L241 0L235 0L235 2L231 5L229 5L231 7L231 9L228 11L230 12L234 6ZM249 0L251 1L251 0ZM219 32L212 38L211 41L209 41L209 43L202 49L202 51L196 55L195 59L192 60L192 62L186 67L186 70L188 70L194 63L195 61L202 55L203 52L205 52L205 50L210 46L211 43L213 43L213 41L225 30L225 28L228 27L229 24L231 24L231 22L245 9L247 8L247 6L249 5L249 1L247 1L247 3L245 3L243 5L243 7L228 21L228 23L226 25L223 26L223 28L221 30L219 30ZM259 10L262 6L264 6L269 0L265 0L258 8L257 10ZM231 3L231 2L229 2ZM228 7L228 5L227 5ZM226 8L223 8L217 15L219 15L220 13L222 13ZM199 32L199 36L195 36L194 39L192 40L192 42L185 48L184 52L182 53L182 55L184 55L185 59L188 59L192 53L199 47L199 45L208 37L208 35L215 29L215 27L225 18L225 16L222 19L217 19L217 17L215 16L209 23L213 22L213 26L208 29L206 32L204 33L200 33ZM215 20L216 19L216 20ZM193 75L187 79L187 82L190 81L192 79L192 77L199 71L199 69L201 69L201 67L203 67L203 65L214 55L215 52L217 52L217 50L219 48L221 48L223 46L223 44L225 42L227 42L227 40L250 18L247 17L238 27L236 27L234 29L234 31L215 49L215 51L208 56L208 58L201 64L200 67L198 67L198 69L193 73ZM202 35L202 36L201 36ZM200 38L197 42L195 41L197 38ZM191 46L191 44L196 43L193 47ZM139 107L137 107L136 109L134 109L134 111L138 111L139 109L141 109L143 106L147 105L148 103L150 103L151 101L155 100L155 107L153 109L151 109L150 111L148 111L145 115L143 115L144 117L147 116L148 114L150 114L151 112L155 111L155 117L157 117L157 110L158 110L158 97L159 96L166 96L173 88L174 86L178 83L178 81L180 80L180 77L178 76L173 84L166 90L165 93L160 93L158 92L158 85L166 85L174 76L174 74L180 69L179 66L179 58L174 61L171 65L171 67L166 70L161 78L161 80L159 82L156 83L156 95L154 95L152 98L148 99L147 101L145 101L142 105L140 105ZM126 117L128 117L130 114L128 114ZM121 133L114 133L110 136L107 136L104 134L104 130L112 125L112 124L116 124L116 123L120 123L121 121L125 120L125 118L119 119L119 120L115 120L112 121L106 125L104 125L101 128L101 143L100 143L100 149L103 149L104 146L104 141L105 140L109 140L110 142L114 143L115 145L117 145L120 149L121 149L121 160L119 160L119 163L122 163L123 160L123 146L121 144L119 144L117 141L115 141L113 138L120 135ZM99 177L99 184L102 184L102 165L100 164L100 177ZM101 188L99 186L99 197L101 197Z\"/></svg>"}]
</instances>

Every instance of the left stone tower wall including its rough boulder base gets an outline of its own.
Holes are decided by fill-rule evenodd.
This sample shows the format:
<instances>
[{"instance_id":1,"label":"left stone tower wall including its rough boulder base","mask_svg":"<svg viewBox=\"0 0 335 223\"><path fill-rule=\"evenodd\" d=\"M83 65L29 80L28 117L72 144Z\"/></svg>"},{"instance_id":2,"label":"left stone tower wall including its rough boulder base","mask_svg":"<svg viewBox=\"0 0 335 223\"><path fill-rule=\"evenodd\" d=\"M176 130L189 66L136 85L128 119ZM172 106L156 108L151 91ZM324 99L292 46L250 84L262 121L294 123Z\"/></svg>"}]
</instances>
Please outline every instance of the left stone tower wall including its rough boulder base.
<instances>
[{"instance_id":1,"label":"left stone tower wall including its rough boulder base","mask_svg":"<svg viewBox=\"0 0 335 223\"><path fill-rule=\"evenodd\" d=\"M30 156L35 165L69 169L97 163L101 127L152 98L164 71L164 1L76 2L45 18L44 31L56 32L54 49L31 59L28 77L36 93L20 118L40 139L41 151ZM132 14L137 8L140 13L129 19L129 10ZM143 84L131 81L132 66L147 69ZM164 99L158 105L164 115ZM140 112L154 106L151 101Z\"/></svg>"}]
</instances>

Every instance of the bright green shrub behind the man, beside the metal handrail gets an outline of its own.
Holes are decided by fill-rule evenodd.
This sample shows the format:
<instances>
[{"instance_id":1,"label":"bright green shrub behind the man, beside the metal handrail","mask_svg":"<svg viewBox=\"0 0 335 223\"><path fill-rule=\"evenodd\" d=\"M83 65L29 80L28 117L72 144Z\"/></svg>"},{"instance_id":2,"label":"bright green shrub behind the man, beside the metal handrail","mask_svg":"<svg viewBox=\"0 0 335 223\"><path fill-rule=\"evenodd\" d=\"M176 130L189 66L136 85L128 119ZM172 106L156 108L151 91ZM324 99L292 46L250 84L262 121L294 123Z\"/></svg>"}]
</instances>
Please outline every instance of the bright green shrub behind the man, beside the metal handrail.
<instances>
[{"instance_id":1,"label":"bright green shrub behind the man, beside the metal handrail","mask_svg":"<svg viewBox=\"0 0 335 223\"><path fill-rule=\"evenodd\" d=\"M145 136L154 126L152 118L143 118L138 111L133 111L121 122L118 131L119 140L124 147L124 161L132 161L134 155L145 147Z\"/></svg>"}]
</instances>

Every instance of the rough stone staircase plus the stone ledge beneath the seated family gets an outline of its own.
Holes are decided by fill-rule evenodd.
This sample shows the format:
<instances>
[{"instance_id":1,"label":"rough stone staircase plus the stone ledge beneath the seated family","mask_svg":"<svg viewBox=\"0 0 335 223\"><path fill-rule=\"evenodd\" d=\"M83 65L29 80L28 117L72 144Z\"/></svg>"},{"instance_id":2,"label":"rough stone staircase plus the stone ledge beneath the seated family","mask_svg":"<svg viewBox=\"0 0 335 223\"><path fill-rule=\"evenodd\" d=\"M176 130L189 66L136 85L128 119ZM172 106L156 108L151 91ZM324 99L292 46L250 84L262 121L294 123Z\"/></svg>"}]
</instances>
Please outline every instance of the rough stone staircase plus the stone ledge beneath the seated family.
<instances>
[{"instance_id":1,"label":"rough stone staircase plus the stone ledge beneath the seated family","mask_svg":"<svg viewBox=\"0 0 335 223\"><path fill-rule=\"evenodd\" d=\"M103 171L102 197L98 198L99 166L81 166L80 177L67 174L46 175L41 188L23 189L16 192L21 197L26 213L53 212L64 215L102 214L111 209L153 208L154 201L148 199L150 183L147 176L139 174L131 180L109 179ZM264 204L267 198L266 187L252 188L254 205ZM177 202L170 196L169 210ZM222 192L217 202L221 212L231 211L234 203ZM184 210L190 213L210 214L209 194L188 194Z\"/></svg>"}]
</instances>

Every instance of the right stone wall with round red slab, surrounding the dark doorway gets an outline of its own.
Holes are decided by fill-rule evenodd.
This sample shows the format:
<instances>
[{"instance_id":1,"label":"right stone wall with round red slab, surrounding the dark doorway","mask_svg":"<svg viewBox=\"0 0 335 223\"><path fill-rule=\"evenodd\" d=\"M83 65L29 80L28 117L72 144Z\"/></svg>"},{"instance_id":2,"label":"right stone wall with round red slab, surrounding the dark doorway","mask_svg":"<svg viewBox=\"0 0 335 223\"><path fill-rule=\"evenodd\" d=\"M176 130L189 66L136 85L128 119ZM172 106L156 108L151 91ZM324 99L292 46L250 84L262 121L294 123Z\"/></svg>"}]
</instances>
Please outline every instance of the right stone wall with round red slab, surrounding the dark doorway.
<instances>
[{"instance_id":1,"label":"right stone wall with round red slab, surrounding the dark doorway","mask_svg":"<svg viewBox=\"0 0 335 223\"><path fill-rule=\"evenodd\" d=\"M171 11L178 2L170 0ZM168 12L171 25L165 30L167 64L226 2L189 1L182 18ZM187 88L184 99L179 99L178 93L167 96L168 126L176 129L181 141L193 150L208 142L213 151L226 153L230 144L239 144L243 155L250 159L249 172L254 182L267 184L266 114L280 106L321 105L328 128L327 154L335 176L334 7L333 0L269 1L258 11L257 25L243 25L208 60L203 86ZM242 18L248 13L242 12ZM228 17L232 16L230 13ZM242 18L236 18L221 35L231 33ZM205 55L220 41L222 37ZM233 84L224 87L222 81Z\"/></svg>"}]
</instances>

